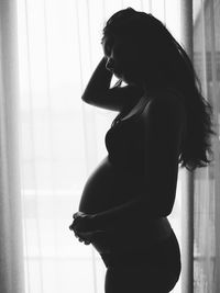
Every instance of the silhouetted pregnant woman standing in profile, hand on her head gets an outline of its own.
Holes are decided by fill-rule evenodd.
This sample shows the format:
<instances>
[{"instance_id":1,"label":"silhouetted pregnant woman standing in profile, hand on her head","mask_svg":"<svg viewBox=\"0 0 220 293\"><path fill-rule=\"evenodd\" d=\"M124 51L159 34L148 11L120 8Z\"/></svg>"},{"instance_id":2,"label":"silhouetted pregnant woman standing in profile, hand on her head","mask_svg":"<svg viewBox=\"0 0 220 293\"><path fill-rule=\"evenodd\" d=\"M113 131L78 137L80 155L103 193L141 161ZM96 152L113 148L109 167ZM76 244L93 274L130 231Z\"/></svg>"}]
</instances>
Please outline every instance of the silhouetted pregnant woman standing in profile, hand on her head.
<instances>
[{"instance_id":1,"label":"silhouetted pregnant woman standing in profile, hand on her head","mask_svg":"<svg viewBox=\"0 0 220 293\"><path fill-rule=\"evenodd\" d=\"M209 164L211 106L185 50L152 14L118 11L101 44L82 100L119 114L69 228L100 253L106 293L169 292L180 274L167 219L178 167ZM119 81L111 88L112 75Z\"/></svg>"}]
</instances>

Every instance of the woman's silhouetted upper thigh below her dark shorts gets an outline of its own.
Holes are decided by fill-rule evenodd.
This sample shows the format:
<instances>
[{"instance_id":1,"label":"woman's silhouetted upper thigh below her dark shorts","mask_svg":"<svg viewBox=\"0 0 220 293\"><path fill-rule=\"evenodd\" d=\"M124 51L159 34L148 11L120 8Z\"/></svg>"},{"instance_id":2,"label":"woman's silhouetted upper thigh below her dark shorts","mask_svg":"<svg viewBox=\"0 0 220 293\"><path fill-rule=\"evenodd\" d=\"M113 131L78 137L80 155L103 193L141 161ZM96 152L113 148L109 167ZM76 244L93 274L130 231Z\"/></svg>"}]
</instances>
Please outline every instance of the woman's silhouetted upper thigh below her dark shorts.
<instances>
[{"instance_id":1,"label":"woman's silhouetted upper thigh below her dark shorts","mask_svg":"<svg viewBox=\"0 0 220 293\"><path fill-rule=\"evenodd\" d=\"M176 283L176 277L160 269L144 267L108 268L106 293L167 293Z\"/></svg>"}]
</instances>

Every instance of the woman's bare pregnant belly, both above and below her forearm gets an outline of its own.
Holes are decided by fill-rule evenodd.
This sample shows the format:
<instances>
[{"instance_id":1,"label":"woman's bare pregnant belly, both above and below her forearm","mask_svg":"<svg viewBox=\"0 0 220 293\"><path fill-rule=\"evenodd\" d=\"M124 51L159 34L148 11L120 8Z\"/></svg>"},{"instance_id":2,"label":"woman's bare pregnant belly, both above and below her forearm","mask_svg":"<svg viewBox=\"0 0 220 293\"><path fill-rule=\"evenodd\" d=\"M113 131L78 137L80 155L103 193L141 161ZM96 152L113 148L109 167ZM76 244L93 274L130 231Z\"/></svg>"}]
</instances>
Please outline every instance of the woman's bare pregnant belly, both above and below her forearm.
<instances>
[{"instance_id":1,"label":"woman's bare pregnant belly, both above and below her forearm","mask_svg":"<svg viewBox=\"0 0 220 293\"><path fill-rule=\"evenodd\" d=\"M142 193L143 181L143 177L116 169L107 157L88 178L78 210L94 214L123 204ZM146 247L150 241L163 239L169 233L168 221L160 218L142 225L139 223L139 232L124 227L123 230L113 229L110 233L100 234L92 245L99 252L135 249Z\"/></svg>"}]
</instances>

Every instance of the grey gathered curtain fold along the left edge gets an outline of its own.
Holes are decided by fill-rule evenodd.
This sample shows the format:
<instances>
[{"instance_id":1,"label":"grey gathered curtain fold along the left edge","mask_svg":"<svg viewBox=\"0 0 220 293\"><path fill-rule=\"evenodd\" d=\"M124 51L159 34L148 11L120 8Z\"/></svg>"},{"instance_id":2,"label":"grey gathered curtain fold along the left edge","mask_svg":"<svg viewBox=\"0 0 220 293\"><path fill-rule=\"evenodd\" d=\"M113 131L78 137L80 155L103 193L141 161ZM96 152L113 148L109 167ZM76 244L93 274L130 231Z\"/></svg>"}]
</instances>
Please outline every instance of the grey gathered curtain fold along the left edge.
<instances>
[{"instance_id":1,"label":"grey gathered curtain fold along the left edge","mask_svg":"<svg viewBox=\"0 0 220 293\"><path fill-rule=\"evenodd\" d=\"M24 292L16 2L0 1L0 292Z\"/></svg>"}]
</instances>

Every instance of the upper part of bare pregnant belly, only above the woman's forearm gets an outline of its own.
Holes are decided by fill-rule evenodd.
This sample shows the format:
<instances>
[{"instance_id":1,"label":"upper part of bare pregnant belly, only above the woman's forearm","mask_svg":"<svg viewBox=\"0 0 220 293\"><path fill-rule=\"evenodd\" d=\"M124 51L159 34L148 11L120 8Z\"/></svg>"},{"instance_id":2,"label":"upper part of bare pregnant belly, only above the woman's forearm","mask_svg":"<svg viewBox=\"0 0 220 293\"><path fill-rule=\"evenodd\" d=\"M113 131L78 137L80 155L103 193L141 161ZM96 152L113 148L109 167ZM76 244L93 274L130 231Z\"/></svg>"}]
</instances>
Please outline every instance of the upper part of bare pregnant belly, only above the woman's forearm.
<instances>
[{"instance_id":1,"label":"upper part of bare pregnant belly, only above the woman's forearm","mask_svg":"<svg viewBox=\"0 0 220 293\"><path fill-rule=\"evenodd\" d=\"M106 211L138 196L142 188L143 178L116 169L107 157L88 178L79 211L84 213Z\"/></svg>"}]
</instances>

